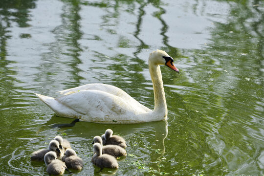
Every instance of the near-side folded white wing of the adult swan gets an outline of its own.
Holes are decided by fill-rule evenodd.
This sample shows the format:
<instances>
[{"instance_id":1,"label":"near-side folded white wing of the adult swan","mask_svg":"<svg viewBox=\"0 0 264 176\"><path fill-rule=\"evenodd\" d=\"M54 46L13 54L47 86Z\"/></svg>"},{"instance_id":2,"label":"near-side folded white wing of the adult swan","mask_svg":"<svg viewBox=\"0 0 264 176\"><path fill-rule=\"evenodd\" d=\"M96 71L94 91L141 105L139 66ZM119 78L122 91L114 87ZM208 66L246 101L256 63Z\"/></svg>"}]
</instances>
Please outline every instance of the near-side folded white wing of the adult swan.
<instances>
[{"instance_id":1,"label":"near-side folded white wing of the adult swan","mask_svg":"<svg viewBox=\"0 0 264 176\"><path fill-rule=\"evenodd\" d=\"M106 121L107 118L120 114L132 115L135 111L132 105L122 98L99 90L81 90L56 100L80 114L91 117L93 121Z\"/></svg>"}]
</instances>

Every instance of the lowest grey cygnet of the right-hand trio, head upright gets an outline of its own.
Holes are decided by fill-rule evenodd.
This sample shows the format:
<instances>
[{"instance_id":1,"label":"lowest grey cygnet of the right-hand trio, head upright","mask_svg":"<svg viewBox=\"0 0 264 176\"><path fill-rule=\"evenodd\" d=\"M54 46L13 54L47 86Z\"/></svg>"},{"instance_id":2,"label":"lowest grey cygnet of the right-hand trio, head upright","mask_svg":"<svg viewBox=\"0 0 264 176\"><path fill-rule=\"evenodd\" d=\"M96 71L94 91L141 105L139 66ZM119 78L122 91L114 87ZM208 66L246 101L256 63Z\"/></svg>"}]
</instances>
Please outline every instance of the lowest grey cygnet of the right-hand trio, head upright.
<instances>
[{"instance_id":1,"label":"lowest grey cygnet of the right-hand trio, head upright","mask_svg":"<svg viewBox=\"0 0 264 176\"><path fill-rule=\"evenodd\" d=\"M93 152L95 153L92 156L91 162L100 167L100 168L118 168L118 163L115 157L109 154L102 154L102 146L99 143L93 144Z\"/></svg>"}]
</instances>

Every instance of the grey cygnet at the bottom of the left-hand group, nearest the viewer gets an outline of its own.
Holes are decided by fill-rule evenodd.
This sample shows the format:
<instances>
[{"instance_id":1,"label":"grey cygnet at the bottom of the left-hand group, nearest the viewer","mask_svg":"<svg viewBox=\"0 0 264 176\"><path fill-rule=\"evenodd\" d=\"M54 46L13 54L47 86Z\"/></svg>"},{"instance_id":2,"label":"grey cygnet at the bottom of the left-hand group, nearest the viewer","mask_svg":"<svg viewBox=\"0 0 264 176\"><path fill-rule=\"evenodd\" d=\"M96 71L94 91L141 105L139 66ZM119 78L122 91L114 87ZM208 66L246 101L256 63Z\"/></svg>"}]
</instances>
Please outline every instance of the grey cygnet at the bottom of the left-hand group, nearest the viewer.
<instances>
[{"instance_id":1,"label":"grey cygnet at the bottom of the left-hand group, nearest the viewer","mask_svg":"<svg viewBox=\"0 0 264 176\"><path fill-rule=\"evenodd\" d=\"M45 154L44 162L47 166L47 173L54 176L61 176L64 174L66 165L63 161L56 159L56 153L50 151Z\"/></svg>"}]
</instances>

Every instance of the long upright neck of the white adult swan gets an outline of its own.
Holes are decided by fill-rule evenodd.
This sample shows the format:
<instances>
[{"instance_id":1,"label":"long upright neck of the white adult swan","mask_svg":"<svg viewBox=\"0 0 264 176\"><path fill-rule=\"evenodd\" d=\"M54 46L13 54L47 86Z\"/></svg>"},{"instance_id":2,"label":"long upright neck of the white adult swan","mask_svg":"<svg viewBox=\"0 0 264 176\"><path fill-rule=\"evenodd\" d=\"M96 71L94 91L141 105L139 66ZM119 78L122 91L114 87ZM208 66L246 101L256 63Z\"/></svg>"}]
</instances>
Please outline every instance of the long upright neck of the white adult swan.
<instances>
[{"instance_id":1,"label":"long upright neck of the white adult swan","mask_svg":"<svg viewBox=\"0 0 264 176\"><path fill-rule=\"evenodd\" d=\"M165 92L163 88L162 76L159 65L149 62L149 70L154 89L154 113L158 114L160 118L167 117L167 104L165 99ZM164 116L163 116L164 115ZM161 117L163 116L163 117Z\"/></svg>"}]
</instances>

